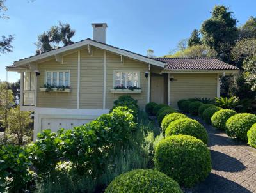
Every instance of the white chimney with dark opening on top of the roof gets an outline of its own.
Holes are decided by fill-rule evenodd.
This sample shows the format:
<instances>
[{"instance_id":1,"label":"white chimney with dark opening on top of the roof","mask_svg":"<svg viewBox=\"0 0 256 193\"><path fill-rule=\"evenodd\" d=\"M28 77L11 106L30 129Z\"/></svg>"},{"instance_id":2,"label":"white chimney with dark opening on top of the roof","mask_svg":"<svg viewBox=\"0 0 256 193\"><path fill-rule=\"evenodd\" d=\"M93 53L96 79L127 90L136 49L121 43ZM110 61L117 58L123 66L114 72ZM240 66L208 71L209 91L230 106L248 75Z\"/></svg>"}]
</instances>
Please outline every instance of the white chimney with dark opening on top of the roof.
<instances>
[{"instance_id":1,"label":"white chimney with dark opening on top of the roof","mask_svg":"<svg viewBox=\"0 0 256 193\"><path fill-rule=\"evenodd\" d=\"M108 25L106 23L92 24L93 40L106 43L107 27Z\"/></svg>"}]
</instances>

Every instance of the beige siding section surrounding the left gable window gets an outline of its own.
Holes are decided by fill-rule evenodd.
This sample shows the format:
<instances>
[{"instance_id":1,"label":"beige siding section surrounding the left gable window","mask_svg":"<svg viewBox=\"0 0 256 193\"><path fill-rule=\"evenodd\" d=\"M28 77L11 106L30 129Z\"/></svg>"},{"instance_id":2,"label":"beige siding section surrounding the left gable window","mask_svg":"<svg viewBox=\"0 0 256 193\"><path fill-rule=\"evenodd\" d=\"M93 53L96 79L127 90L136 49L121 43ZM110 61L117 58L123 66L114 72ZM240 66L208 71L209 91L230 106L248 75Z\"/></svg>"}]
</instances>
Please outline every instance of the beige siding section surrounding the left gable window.
<instances>
[{"instance_id":1,"label":"beige siding section surrounding the left gable window","mask_svg":"<svg viewBox=\"0 0 256 193\"><path fill-rule=\"evenodd\" d=\"M63 56L63 64L57 63L55 59L38 64L40 76L37 77L37 107L67 109L75 109L77 107L77 57L76 52ZM40 86L45 84L45 70L70 70L70 87L72 92L40 92Z\"/></svg>"}]
</instances>

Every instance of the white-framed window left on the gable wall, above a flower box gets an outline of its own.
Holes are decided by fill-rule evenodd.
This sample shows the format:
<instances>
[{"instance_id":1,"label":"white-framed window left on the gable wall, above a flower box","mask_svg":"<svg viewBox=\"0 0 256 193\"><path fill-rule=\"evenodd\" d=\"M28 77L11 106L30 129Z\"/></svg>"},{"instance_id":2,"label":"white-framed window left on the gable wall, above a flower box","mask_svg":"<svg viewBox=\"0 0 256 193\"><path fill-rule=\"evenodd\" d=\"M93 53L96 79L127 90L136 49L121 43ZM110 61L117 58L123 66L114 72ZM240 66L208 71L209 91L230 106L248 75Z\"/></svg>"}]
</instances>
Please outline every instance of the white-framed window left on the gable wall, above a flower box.
<instances>
[{"instance_id":1,"label":"white-framed window left on the gable wall, above a flower box","mask_svg":"<svg viewBox=\"0 0 256 193\"><path fill-rule=\"evenodd\" d=\"M46 71L45 83L53 86L70 86L70 71Z\"/></svg>"}]
</instances>

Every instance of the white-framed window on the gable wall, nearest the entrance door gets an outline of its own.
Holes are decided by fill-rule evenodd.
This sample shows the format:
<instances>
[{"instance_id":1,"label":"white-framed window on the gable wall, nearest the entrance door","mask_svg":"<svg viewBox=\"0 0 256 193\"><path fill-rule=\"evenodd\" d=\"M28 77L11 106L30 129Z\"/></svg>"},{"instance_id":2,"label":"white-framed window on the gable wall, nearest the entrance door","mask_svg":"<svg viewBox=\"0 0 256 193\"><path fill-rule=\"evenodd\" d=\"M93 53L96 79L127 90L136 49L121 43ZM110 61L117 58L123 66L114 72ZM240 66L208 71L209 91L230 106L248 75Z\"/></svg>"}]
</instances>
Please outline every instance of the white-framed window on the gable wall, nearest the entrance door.
<instances>
[{"instance_id":1,"label":"white-framed window on the gable wall, nearest the entrance door","mask_svg":"<svg viewBox=\"0 0 256 193\"><path fill-rule=\"evenodd\" d=\"M139 72L114 72L115 86L137 86L140 87Z\"/></svg>"}]
</instances>

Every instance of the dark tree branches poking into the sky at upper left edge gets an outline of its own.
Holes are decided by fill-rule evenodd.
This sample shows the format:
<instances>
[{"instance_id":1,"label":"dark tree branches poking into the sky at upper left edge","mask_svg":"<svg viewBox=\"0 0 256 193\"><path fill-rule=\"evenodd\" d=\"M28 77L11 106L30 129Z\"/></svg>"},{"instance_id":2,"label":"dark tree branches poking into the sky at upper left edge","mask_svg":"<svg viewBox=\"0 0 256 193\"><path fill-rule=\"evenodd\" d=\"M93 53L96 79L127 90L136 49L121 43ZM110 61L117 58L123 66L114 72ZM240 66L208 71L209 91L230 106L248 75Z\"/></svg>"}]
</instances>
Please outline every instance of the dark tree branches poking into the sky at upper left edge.
<instances>
[{"instance_id":1,"label":"dark tree branches poking into the sky at upper left edge","mask_svg":"<svg viewBox=\"0 0 256 193\"><path fill-rule=\"evenodd\" d=\"M6 16L4 13L8 9L5 5L5 0L0 0L0 19L8 19L8 16ZM0 40L0 54L6 54L6 52L12 52L13 46L11 45L12 41L14 40L14 35L9 35L8 37L2 36L2 39Z\"/></svg>"}]
</instances>

